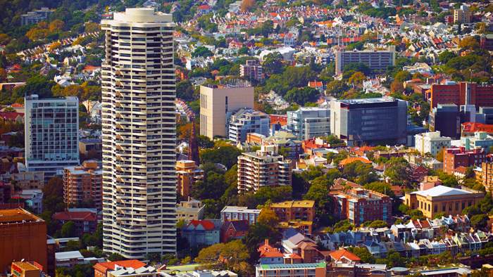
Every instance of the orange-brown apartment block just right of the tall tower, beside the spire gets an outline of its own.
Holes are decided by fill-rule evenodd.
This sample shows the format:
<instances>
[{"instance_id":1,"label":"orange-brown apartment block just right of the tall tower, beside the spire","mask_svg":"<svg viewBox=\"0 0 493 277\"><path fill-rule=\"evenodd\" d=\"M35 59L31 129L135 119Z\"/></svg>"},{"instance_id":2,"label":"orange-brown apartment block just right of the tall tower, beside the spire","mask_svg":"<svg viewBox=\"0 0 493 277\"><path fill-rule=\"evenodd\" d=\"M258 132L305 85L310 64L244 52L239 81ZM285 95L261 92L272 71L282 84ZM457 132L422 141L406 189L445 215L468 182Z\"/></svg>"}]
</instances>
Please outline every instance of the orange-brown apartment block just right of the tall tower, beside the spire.
<instances>
[{"instance_id":1,"label":"orange-brown apartment block just right of the tall tower, beside the spire","mask_svg":"<svg viewBox=\"0 0 493 277\"><path fill-rule=\"evenodd\" d=\"M190 195L190 188L199 180L204 179L204 170L197 167L193 160L179 160L176 162L176 191L183 198Z\"/></svg>"}]
</instances>

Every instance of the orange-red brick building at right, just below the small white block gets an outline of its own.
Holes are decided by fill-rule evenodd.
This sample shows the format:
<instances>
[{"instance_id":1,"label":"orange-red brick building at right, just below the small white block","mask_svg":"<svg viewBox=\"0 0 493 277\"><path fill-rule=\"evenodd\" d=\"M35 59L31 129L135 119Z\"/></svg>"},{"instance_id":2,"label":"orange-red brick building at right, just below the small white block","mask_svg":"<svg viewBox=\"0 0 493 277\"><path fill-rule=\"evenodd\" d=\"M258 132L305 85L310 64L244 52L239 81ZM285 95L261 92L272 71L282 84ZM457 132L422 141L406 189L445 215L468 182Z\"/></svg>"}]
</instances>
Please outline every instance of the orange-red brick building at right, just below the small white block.
<instances>
[{"instance_id":1,"label":"orange-red brick building at right, just below the small white block","mask_svg":"<svg viewBox=\"0 0 493 277\"><path fill-rule=\"evenodd\" d=\"M466 150L464 147L448 148L444 152L444 172L454 174L456 167L481 165L486 161L484 149Z\"/></svg>"}]
</instances>

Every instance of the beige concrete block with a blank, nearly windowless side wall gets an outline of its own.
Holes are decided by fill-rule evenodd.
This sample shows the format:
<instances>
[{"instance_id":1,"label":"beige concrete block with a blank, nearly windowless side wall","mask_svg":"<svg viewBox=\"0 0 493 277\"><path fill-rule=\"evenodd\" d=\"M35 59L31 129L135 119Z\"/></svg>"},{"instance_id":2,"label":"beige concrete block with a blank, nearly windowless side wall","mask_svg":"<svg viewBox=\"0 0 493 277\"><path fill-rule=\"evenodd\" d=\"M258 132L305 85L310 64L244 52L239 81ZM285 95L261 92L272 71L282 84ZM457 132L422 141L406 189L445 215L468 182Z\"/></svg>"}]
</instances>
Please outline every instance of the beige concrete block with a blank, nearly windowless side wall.
<instances>
[{"instance_id":1,"label":"beige concrete block with a blank, nearly windowless side wall","mask_svg":"<svg viewBox=\"0 0 493 277\"><path fill-rule=\"evenodd\" d=\"M227 136L227 119L239 108L254 108L254 87L248 82L200 86L200 134Z\"/></svg>"}]
</instances>

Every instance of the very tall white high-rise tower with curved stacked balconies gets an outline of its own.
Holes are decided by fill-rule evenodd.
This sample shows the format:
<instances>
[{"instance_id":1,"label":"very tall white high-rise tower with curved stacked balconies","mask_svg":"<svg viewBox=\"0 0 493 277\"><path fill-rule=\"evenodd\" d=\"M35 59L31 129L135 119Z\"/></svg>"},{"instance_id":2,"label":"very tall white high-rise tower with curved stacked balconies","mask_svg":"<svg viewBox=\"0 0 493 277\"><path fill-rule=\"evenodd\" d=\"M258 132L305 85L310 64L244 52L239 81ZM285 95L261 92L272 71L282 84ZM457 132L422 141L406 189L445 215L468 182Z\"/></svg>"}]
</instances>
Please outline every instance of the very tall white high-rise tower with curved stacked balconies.
<instances>
[{"instance_id":1,"label":"very tall white high-rise tower with curved stacked balconies","mask_svg":"<svg viewBox=\"0 0 493 277\"><path fill-rule=\"evenodd\" d=\"M169 14L102 20L103 247L129 259L176 252L176 116Z\"/></svg>"}]
</instances>

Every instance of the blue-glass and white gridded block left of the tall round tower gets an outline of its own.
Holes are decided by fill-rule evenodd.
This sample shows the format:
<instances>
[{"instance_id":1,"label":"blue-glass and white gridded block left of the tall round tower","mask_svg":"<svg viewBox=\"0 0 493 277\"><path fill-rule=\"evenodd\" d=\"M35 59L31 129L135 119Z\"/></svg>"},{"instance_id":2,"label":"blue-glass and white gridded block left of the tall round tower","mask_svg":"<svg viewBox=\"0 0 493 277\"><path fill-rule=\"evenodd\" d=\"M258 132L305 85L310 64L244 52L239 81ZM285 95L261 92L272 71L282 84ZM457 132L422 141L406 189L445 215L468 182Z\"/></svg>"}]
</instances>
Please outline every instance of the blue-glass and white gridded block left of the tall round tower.
<instances>
[{"instance_id":1,"label":"blue-glass and white gridded block left of the tall round tower","mask_svg":"<svg viewBox=\"0 0 493 277\"><path fill-rule=\"evenodd\" d=\"M25 97L25 160L27 171L44 177L79 165L79 100L77 97Z\"/></svg>"}]
</instances>

